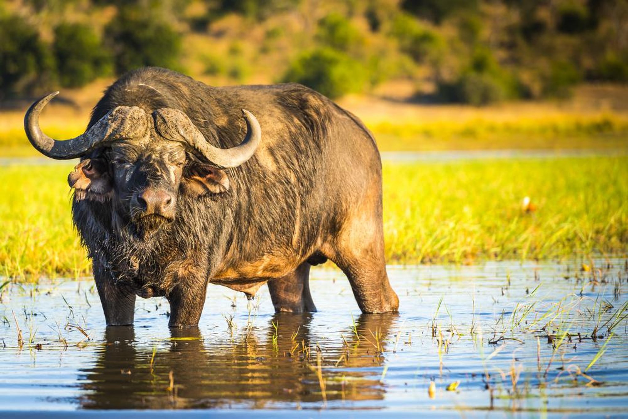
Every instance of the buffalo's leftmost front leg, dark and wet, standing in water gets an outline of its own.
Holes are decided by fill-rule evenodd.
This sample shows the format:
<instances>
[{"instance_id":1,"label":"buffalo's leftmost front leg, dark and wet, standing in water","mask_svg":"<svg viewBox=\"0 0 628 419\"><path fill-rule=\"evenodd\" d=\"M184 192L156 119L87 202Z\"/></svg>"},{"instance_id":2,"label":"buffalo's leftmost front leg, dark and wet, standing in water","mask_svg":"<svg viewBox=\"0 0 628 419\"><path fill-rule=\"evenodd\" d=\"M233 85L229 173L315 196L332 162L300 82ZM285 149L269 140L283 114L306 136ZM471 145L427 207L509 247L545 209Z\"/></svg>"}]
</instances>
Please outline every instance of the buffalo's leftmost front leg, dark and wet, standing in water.
<instances>
[{"instance_id":1,"label":"buffalo's leftmost front leg, dark and wet, standing in water","mask_svg":"<svg viewBox=\"0 0 628 419\"><path fill-rule=\"evenodd\" d=\"M107 326L133 325L135 293L126 285L114 283L111 275L96 264L94 264L94 281Z\"/></svg>"}]
</instances>

